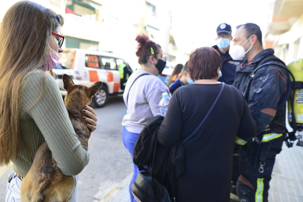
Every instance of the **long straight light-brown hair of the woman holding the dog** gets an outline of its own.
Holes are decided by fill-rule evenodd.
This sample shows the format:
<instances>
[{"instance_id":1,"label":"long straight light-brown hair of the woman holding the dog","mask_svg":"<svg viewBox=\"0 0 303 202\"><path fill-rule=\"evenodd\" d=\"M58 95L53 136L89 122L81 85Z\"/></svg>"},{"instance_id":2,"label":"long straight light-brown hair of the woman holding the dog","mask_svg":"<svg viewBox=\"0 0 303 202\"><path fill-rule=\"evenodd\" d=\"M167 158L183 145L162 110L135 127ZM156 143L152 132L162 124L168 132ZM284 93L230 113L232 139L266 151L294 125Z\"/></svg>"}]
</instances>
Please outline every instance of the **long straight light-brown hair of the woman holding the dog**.
<instances>
[{"instance_id":1,"label":"long straight light-brown hair of the woman holding the dog","mask_svg":"<svg viewBox=\"0 0 303 202\"><path fill-rule=\"evenodd\" d=\"M63 18L35 2L15 3L0 28L0 165L18 157L22 83L26 74L43 69L51 33Z\"/></svg>"}]
</instances>

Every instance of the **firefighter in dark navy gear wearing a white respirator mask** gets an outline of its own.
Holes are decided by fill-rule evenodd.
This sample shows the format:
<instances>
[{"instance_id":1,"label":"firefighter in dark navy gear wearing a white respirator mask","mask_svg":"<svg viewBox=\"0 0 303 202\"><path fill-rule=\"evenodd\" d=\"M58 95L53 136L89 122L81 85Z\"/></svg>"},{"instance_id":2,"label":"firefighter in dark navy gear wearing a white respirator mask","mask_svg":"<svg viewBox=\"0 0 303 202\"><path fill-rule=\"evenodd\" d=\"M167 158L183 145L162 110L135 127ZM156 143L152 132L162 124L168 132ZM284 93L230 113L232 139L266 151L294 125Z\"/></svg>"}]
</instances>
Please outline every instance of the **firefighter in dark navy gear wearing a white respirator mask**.
<instances>
[{"instance_id":1,"label":"firefighter in dark navy gear wearing a white respirator mask","mask_svg":"<svg viewBox=\"0 0 303 202\"><path fill-rule=\"evenodd\" d=\"M237 194L241 201L267 202L275 156L284 140L290 78L283 68L285 64L273 55L274 50L263 49L258 25L237 26L233 41L229 54L234 60L244 59L236 68L233 85L248 102L258 134L248 142L236 140L236 145L243 145L239 152Z\"/></svg>"}]
</instances>

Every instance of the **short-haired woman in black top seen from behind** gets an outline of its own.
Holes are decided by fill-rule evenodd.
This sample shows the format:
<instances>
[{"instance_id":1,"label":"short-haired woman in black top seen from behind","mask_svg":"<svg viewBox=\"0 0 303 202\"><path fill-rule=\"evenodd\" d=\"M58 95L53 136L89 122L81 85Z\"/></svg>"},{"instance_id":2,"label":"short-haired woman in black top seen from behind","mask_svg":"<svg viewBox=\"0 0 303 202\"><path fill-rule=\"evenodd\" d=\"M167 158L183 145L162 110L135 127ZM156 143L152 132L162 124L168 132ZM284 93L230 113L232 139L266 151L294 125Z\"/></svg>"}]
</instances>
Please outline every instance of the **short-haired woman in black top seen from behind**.
<instances>
[{"instance_id":1,"label":"short-haired woman in black top seen from behind","mask_svg":"<svg viewBox=\"0 0 303 202\"><path fill-rule=\"evenodd\" d=\"M173 94L158 131L161 144L184 140L201 123L220 91L220 68L220 55L214 48L191 53L188 71L195 83ZM186 170L176 179L176 200L228 202L235 141L248 141L255 135L255 121L242 94L225 85L206 122L183 145Z\"/></svg>"}]
</instances>

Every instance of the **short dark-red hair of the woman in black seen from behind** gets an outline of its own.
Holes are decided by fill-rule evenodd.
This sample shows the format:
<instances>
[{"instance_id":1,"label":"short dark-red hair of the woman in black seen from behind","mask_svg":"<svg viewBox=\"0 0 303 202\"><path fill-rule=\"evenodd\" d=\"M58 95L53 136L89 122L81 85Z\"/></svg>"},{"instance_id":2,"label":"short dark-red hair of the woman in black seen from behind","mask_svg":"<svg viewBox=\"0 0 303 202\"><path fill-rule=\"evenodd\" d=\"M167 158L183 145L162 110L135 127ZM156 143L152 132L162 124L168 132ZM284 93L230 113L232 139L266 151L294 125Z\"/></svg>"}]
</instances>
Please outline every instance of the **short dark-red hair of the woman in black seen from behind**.
<instances>
[{"instance_id":1,"label":"short dark-red hair of the woman in black seen from behind","mask_svg":"<svg viewBox=\"0 0 303 202\"><path fill-rule=\"evenodd\" d=\"M221 57L218 51L211 47L201 47L192 51L188 60L189 76L193 80L216 79L218 68L221 69Z\"/></svg>"}]
</instances>

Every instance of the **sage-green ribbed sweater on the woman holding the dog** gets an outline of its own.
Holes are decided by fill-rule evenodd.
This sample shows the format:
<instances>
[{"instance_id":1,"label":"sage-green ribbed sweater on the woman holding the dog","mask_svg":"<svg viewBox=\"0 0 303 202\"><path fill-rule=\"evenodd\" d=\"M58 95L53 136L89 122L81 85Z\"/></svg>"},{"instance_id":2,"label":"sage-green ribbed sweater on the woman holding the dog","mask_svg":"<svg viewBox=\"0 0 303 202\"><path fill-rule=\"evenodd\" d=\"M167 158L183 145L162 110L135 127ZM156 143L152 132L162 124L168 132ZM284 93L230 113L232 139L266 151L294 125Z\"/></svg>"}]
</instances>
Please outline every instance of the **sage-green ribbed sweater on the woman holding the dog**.
<instances>
[{"instance_id":1,"label":"sage-green ribbed sweater on the woman holding the dog","mask_svg":"<svg viewBox=\"0 0 303 202\"><path fill-rule=\"evenodd\" d=\"M18 158L12 160L14 171L25 176L36 151L46 141L61 172L79 174L88 164L89 154L72 127L55 79L44 71L32 71L23 80L21 113L32 104L20 119L22 140Z\"/></svg>"}]
</instances>

